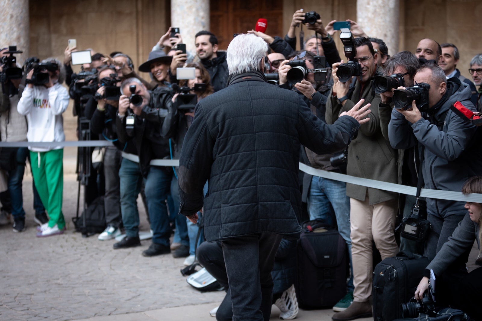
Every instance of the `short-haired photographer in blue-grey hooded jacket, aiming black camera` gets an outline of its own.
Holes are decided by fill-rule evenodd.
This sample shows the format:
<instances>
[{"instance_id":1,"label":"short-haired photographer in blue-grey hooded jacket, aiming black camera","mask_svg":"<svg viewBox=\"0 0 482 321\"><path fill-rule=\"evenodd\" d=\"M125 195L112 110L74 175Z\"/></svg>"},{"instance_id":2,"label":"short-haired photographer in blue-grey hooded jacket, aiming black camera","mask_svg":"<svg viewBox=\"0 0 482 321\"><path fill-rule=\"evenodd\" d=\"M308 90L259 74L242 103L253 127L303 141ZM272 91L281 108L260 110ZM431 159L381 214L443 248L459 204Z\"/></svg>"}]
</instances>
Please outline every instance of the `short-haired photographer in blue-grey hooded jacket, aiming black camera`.
<instances>
[{"instance_id":1,"label":"short-haired photographer in blue-grey hooded jacket, aiming black camera","mask_svg":"<svg viewBox=\"0 0 482 321\"><path fill-rule=\"evenodd\" d=\"M390 144L397 149L419 144L423 188L460 190L482 167L481 160L470 155L475 154L477 128L449 108L459 101L475 111L470 87L458 78L447 80L443 70L433 63L419 67L414 80L414 87L394 92L395 108L388 125ZM461 201L427 198L430 229L424 255L429 260L440 251L465 214ZM466 261L467 255L446 273L464 273Z\"/></svg>"}]
</instances>

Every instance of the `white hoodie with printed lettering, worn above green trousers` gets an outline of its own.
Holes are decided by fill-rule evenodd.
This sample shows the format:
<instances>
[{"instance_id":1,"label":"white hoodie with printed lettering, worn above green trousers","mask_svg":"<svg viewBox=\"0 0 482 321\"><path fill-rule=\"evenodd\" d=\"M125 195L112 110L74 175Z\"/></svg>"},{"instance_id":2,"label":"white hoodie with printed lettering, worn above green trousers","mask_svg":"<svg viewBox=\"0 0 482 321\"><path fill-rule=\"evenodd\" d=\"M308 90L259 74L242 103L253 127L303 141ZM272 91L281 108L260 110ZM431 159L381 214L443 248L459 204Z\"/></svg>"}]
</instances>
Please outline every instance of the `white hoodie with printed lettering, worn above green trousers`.
<instances>
[{"instance_id":1,"label":"white hoodie with printed lettering, worn above green trousers","mask_svg":"<svg viewBox=\"0 0 482 321\"><path fill-rule=\"evenodd\" d=\"M60 83L50 88L33 86L25 88L20 98L18 113L27 116L29 142L63 142L64 119L62 113L68 106L67 89ZM31 151L44 152L62 147L28 147Z\"/></svg>"}]
</instances>

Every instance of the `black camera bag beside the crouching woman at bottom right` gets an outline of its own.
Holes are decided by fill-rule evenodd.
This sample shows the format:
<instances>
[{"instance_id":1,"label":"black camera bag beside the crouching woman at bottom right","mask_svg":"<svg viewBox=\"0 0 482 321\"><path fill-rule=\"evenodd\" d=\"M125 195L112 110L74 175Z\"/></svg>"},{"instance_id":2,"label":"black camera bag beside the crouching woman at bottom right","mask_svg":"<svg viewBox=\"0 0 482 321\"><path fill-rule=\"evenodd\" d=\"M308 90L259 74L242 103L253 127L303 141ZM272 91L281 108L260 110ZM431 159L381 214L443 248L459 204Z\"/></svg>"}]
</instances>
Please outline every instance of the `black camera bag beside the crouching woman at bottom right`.
<instances>
[{"instance_id":1,"label":"black camera bag beside the crouching woman at bottom right","mask_svg":"<svg viewBox=\"0 0 482 321\"><path fill-rule=\"evenodd\" d=\"M414 296L428 263L427 257L399 252L376 265L372 289L375 321L402 318L402 303Z\"/></svg>"}]
</instances>

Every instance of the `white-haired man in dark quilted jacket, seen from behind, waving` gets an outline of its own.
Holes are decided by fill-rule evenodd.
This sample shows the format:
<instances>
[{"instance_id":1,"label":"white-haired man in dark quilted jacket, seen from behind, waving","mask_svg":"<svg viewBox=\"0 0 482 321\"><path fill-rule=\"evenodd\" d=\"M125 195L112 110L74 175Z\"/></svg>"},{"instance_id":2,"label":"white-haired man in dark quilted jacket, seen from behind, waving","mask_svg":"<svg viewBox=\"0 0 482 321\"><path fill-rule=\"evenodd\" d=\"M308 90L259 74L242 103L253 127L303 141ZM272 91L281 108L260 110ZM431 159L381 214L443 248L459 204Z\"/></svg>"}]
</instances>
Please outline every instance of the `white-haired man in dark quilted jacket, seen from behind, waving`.
<instances>
[{"instance_id":1,"label":"white-haired man in dark quilted jacket, seen from behind, waving","mask_svg":"<svg viewBox=\"0 0 482 321\"><path fill-rule=\"evenodd\" d=\"M300 145L343 150L370 112L361 101L327 125L298 94L266 82L267 50L252 34L231 41L228 86L196 106L179 161L180 213L196 223L203 208L206 240L221 242L233 321L269 320L278 245L301 231Z\"/></svg>"}]
</instances>

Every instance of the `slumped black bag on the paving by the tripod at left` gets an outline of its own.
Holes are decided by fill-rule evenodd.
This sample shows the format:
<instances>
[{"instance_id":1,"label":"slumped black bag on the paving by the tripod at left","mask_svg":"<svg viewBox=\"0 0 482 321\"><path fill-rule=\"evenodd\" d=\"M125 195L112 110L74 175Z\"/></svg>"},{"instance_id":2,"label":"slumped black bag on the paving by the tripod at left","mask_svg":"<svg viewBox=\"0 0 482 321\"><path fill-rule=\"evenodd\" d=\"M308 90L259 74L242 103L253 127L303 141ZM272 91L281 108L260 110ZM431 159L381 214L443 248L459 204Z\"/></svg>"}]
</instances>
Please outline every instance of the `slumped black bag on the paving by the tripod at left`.
<instances>
[{"instance_id":1,"label":"slumped black bag on the paving by the tripod at left","mask_svg":"<svg viewBox=\"0 0 482 321\"><path fill-rule=\"evenodd\" d=\"M75 230L82 232L82 235L91 236L96 233L102 233L107 227L104 197L97 197L79 217L72 217L72 221L74 222Z\"/></svg>"}]
</instances>

